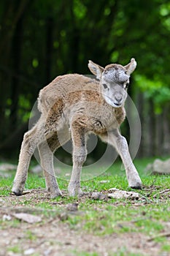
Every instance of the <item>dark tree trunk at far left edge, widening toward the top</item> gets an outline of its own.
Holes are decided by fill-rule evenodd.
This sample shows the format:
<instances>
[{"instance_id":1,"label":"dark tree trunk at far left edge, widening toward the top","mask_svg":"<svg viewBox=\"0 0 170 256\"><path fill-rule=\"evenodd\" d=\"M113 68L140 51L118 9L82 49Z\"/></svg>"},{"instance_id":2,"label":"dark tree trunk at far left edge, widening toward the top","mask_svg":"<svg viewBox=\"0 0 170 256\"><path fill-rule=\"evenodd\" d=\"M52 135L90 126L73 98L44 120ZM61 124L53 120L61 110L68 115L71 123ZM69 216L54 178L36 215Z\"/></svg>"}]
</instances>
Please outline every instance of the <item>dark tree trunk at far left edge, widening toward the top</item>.
<instances>
[{"instance_id":1,"label":"dark tree trunk at far left edge, widening toward the top","mask_svg":"<svg viewBox=\"0 0 170 256\"><path fill-rule=\"evenodd\" d=\"M4 1L1 2L4 9L4 16L1 19L1 31L0 31L0 86L1 86L1 101L0 101L0 140L4 140L7 136L9 130L8 119L6 116L7 99L10 97L9 93L11 91L10 87L10 76L9 67L11 64L11 50L12 50L12 37L15 31L16 24L20 17L23 15L24 10L29 0L22 1ZM1 6L1 5L0 5ZM5 129L4 129L5 127Z\"/></svg>"}]
</instances>

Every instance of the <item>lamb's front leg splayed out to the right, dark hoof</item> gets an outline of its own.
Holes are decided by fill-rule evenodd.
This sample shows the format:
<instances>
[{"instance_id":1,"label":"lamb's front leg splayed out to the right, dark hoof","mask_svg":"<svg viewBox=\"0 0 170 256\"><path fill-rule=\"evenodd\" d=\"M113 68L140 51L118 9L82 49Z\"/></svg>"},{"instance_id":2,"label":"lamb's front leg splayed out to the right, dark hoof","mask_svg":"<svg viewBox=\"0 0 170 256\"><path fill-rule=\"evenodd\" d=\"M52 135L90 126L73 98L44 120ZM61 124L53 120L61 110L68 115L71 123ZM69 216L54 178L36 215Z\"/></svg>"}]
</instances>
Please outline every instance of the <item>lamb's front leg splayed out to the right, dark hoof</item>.
<instances>
[{"instance_id":1,"label":"lamb's front leg splayed out to the right, dark hoof","mask_svg":"<svg viewBox=\"0 0 170 256\"><path fill-rule=\"evenodd\" d=\"M115 146L117 152L120 154L123 165L125 167L125 173L128 179L128 186L133 189L141 189L142 181L129 154L128 143L126 139L122 135L120 135L118 129L114 129L112 132L109 133L108 143L112 144L112 146Z\"/></svg>"}]
</instances>

